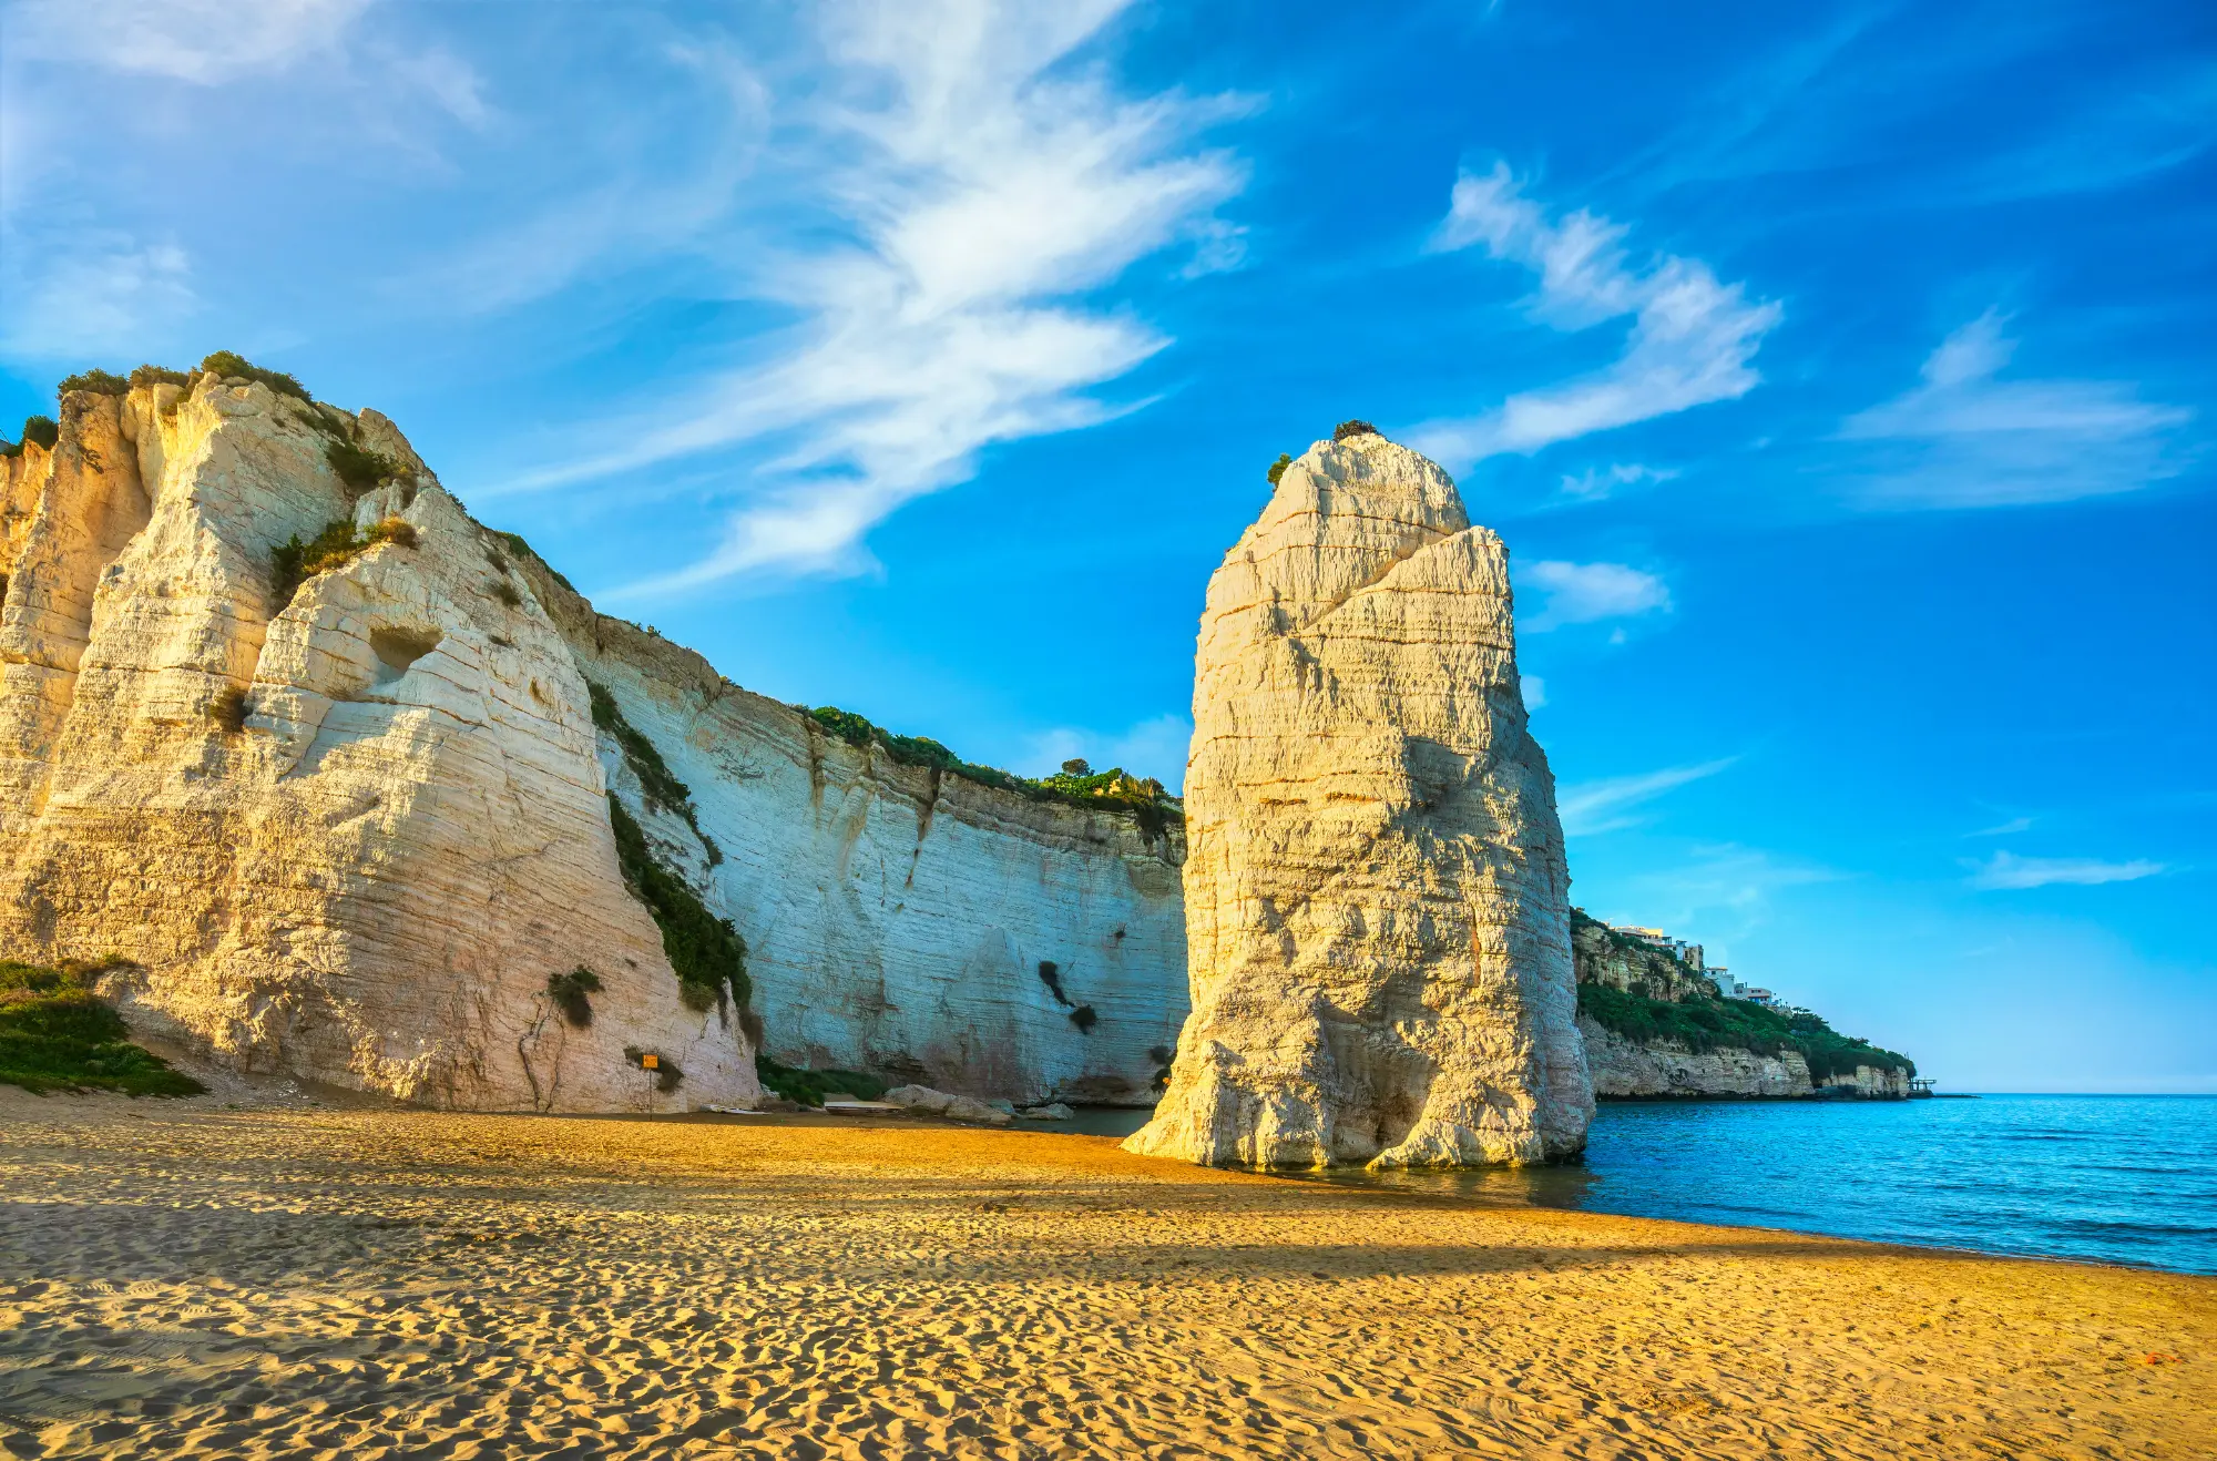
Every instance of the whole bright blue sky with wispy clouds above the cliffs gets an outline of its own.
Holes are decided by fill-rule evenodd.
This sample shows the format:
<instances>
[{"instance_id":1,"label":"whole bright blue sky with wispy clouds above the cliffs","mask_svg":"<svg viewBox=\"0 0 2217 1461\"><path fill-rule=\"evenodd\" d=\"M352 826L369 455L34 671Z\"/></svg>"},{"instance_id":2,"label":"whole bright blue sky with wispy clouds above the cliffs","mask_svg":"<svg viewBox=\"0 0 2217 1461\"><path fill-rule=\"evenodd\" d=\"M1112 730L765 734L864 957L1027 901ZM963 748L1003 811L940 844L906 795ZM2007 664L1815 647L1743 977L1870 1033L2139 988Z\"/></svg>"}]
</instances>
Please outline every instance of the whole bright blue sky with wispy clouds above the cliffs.
<instances>
[{"instance_id":1,"label":"whole bright blue sky with wispy clouds above the cliffs","mask_svg":"<svg viewBox=\"0 0 2217 1461\"><path fill-rule=\"evenodd\" d=\"M1264 468L1510 543L1574 898L2217 1091L2217 11L0 7L0 419L235 348L740 685L1177 778Z\"/></svg>"}]
</instances>

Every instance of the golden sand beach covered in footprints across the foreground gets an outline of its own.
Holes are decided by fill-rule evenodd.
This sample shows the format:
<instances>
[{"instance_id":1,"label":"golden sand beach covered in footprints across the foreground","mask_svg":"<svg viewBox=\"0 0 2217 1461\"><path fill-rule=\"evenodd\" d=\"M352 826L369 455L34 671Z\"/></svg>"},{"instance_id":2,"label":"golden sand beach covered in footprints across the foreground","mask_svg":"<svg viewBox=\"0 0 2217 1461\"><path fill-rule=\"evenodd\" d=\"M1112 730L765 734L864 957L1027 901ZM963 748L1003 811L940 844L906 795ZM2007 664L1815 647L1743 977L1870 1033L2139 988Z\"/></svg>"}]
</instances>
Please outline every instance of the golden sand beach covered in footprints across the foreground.
<instances>
[{"instance_id":1,"label":"golden sand beach covered in footprints across the foreground","mask_svg":"<svg viewBox=\"0 0 2217 1461\"><path fill-rule=\"evenodd\" d=\"M2213 1279L1104 1137L0 1100L22 1457L2208 1457L2213 1368Z\"/></svg>"}]
</instances>

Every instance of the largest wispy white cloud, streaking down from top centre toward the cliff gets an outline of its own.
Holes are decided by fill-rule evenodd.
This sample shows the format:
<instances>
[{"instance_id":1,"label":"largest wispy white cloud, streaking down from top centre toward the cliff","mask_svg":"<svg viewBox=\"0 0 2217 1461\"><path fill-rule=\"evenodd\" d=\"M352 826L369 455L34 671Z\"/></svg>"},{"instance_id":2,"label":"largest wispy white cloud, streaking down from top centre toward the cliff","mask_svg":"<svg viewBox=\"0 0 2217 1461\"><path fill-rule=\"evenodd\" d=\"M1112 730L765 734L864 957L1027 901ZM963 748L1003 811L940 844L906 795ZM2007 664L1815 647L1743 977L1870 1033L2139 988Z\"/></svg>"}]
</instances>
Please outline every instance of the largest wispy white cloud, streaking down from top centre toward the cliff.
<instances>
[{"instance_id":1,"label":"largest wispy white cloud, streaking down from top centre toward the cliff","mask_svg":"<svg viewBox=\"0 0 2217 1461\"><path fill-rule=\"evenodd\" d=\"M1237 100L1133 98L1073 53L1128 0L842 4L825 20L823 153L834 244L760 295L798 324L758 364L601 428L614 452L519 477L541 490L752 443L723 541L616 596L749 570L840 572L900 503L964 481L978 452L1108 419L1091 395L1168 337L1086 293L1173 244L1237 264L1213 208L1242 164L1197 142Z\"/></svg>"}]
</instances>

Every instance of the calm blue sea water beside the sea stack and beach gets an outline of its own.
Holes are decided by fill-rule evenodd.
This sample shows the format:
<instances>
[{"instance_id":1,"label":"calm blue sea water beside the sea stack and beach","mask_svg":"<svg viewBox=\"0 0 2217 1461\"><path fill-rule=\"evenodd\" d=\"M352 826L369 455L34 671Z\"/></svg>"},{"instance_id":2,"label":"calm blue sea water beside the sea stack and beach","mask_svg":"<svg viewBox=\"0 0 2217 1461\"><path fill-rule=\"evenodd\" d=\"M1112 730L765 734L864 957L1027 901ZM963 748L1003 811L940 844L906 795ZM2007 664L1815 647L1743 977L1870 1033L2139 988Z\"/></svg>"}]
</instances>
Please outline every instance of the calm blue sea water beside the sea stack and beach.
<instances>
[{"instance_id":1,"label":"calm blue sea water beside the sea stack and beach","mask_svg":"<svg viewBox=\"0 0 2217 1461\"><path fill-rule=\"evenodd\" d=\"M1328 1179L2217 1273L2210 1095L1605 1104L1585 1166Z\"/></svg>"}]
</instances>

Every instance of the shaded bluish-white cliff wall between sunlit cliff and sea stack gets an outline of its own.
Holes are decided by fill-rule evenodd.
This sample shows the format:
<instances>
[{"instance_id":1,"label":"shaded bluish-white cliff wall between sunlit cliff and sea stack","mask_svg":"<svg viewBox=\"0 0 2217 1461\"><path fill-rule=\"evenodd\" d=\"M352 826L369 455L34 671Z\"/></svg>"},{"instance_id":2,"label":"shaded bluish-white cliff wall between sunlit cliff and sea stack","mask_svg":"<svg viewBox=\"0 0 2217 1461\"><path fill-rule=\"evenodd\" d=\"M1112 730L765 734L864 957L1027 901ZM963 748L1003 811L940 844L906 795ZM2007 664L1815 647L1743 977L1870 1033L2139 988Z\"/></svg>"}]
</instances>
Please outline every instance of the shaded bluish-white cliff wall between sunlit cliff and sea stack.
<instances>
[{"instance_id":1,"label":"shaded bluish-white cliff wall between sunlit cliff and sea stack","mask_svg":"<svg viewBox=\"0 0 2217 1461\"><path fill-rule=\"evenodd\" d=\"M1186 1015L1184 831L896 763L541 581L583 672L692 789L619 796L747 938L785 1064L1015 1102L1148 1104ZM1044 967L1044 973L1042 973Z\"/></svg>"}]
</instances>

